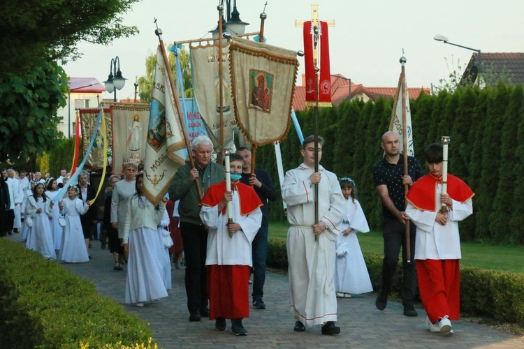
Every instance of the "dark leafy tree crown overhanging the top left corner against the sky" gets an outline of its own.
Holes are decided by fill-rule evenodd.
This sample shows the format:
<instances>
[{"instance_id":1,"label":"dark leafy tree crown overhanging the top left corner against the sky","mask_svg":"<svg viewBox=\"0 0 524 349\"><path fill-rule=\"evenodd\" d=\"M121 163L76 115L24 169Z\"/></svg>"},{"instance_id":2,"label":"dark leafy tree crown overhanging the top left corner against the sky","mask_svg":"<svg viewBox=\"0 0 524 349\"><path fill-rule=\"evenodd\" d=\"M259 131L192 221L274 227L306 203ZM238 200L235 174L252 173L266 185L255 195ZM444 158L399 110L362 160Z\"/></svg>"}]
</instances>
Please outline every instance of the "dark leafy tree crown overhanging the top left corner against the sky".
<instances>
[{"instance_id":1,"label":"dark leafy tree crown overhanging the top left corner against the sky","mask_svg":"<svg viewBox=\"0 0 524 349\"><path fill-rule=\"evenodd\" d=\"M138 32L120 13L138 0L2 1L0 75L20 75L46 61L76 59L80 41L108 45Z\"/></svg>"}]
</instances>

